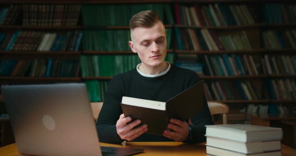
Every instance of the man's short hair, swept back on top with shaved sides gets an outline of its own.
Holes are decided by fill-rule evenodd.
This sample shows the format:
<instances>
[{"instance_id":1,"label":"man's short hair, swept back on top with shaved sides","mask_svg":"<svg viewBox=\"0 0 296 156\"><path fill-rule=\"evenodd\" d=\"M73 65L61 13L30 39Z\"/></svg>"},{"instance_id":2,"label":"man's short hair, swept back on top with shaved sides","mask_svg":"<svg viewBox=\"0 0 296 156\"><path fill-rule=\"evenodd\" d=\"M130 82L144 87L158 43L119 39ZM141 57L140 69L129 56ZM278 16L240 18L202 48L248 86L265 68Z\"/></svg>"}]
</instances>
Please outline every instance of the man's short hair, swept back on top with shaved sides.
<instances>
[{"instance_id":1,"label":"man's short hair, swept back on top with shaved sides","mask_svg":"<svg viewBox=\"0 0 296 156\"><path fill-rule=\"evenodd\" d=\"M152 10L140 11L130 18L129 28L133 30L136 27L152 27L158 21L162 20L156 12Z\"/></svg>"}]
</instances>

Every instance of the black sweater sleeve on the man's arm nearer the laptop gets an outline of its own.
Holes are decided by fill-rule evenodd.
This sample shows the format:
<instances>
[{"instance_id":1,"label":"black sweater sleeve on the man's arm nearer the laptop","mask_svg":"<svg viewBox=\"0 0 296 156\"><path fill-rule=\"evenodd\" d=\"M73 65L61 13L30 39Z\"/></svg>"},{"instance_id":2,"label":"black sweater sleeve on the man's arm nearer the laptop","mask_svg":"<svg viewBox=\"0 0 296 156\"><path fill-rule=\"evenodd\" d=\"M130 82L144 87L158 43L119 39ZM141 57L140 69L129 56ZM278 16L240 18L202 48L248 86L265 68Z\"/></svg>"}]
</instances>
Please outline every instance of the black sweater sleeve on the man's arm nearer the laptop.
<instances>
[{"instance_id":1,"label":"black sweater sleeve on the man's arm nearer the laptop","mask_svg":"<svg viewBox=\"0 0 296 156\"><path fill-rule=\"evenodd\" d=\"M122 80L113 77L105 92L104 103L99 113L96 128L99 140L107 143L120 143L124 141L116 131L116 122L122 113L120 102L122 98Z\"/></svg>"}]
</instances>

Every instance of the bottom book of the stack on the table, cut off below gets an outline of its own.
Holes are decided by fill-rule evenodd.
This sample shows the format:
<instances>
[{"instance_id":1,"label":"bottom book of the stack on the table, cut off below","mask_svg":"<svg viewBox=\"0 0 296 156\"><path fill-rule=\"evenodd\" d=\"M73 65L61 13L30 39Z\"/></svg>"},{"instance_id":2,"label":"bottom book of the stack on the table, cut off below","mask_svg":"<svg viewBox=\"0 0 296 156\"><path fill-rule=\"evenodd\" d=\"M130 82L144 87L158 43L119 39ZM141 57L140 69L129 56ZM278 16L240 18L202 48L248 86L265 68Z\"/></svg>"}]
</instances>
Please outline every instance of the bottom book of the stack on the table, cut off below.
<instances>
[{"instance_id":1,"label":"bottom book of the stack on the table, cut off below","mask_svg":"<svg viewBox=\"0 0 296 156\"><path fill-rule=\"evenodd\" d=\"M280 151L270 151L270 152L260 152L252 154L244 154L232 150L226 150L221 148L216 148L212 146L206 146L207 154L209 155L227 155L227 156L280 156Z\"/></svg>"}]
</instances>

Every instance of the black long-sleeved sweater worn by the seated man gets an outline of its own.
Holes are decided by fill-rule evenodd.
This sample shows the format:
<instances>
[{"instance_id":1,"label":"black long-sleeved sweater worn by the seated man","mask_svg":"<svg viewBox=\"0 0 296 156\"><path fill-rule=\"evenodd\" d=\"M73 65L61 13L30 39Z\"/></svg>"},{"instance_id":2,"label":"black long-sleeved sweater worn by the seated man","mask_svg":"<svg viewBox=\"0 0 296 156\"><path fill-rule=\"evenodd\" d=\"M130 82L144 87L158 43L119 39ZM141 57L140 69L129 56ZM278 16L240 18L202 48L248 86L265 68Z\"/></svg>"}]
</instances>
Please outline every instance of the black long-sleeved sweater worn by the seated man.
<instances>
[{"instance_id":1,"label":"black long-sleeved sweater worn by the seated man","mask_svg":"<svg viewBox=\"0 0 296 156\"><path fill-rule=\"evenodd\" d=\"M171 64L171 68L166 74L158 77L142 76L137 72L136 68L114 76L105 92L104 104L96 122L99 140L108 143L124 141L117 134L115 126L122 113L120 106L122 96L166 101L198 81L200 81L200 78L194 71L173 64ZM206 100L199 104L204 106L200 113L191 117L193 140L190 142L206 141L204 136L205 125L213 124ZM165 136L144 133L132 141L174 140Z\"/></svg>"}]
</instances>

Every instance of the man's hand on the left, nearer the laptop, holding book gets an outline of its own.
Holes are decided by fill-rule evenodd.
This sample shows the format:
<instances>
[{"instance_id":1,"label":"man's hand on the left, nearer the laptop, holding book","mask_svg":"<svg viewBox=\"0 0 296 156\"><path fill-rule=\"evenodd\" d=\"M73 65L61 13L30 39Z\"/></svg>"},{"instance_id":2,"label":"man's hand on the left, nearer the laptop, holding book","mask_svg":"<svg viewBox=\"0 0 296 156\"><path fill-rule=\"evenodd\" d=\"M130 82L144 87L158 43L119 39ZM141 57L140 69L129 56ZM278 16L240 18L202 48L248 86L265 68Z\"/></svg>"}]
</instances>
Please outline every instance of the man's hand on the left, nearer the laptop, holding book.
<instances>
[{"instance_id":1,"label":"man's hand on the left, nearer the laptop, holding book","mask_svg":"<svg viewBox=\"0 0 296 156\"><path fill-rule=\"evenodd\" d=\"M136 125L141 123L139 119L132 122L130 121L131 117L125 117L123 113L119 116L119 119L116 122L116 131L121 139L131 141L148 130L146 124L135 127Z\"/></svg>"}]
</instances>

